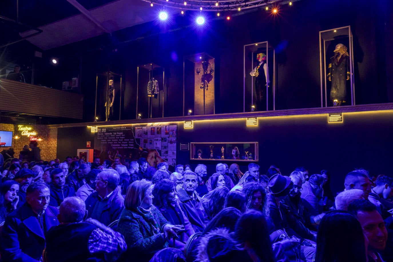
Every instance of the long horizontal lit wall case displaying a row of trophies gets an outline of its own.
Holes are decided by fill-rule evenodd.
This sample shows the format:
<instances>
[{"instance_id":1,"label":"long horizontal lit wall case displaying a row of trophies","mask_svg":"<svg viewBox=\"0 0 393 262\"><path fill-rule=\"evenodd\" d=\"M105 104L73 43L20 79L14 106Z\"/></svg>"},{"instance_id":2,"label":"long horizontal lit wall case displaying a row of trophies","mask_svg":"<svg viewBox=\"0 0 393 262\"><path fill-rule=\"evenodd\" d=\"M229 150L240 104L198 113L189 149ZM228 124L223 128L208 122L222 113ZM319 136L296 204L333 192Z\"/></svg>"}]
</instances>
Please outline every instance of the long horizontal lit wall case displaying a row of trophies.
<instances>
[{"instance_id":1,"label":"long horizontal lit wall case displaying a row of trophies","mask_svg":"<svg viewBox=\"0 0 393 262\"><path fill-rule=\"evenodd\" d=\"M191 160L258 161L258 142L191 143Z\"/></svg>"}]
</instances>

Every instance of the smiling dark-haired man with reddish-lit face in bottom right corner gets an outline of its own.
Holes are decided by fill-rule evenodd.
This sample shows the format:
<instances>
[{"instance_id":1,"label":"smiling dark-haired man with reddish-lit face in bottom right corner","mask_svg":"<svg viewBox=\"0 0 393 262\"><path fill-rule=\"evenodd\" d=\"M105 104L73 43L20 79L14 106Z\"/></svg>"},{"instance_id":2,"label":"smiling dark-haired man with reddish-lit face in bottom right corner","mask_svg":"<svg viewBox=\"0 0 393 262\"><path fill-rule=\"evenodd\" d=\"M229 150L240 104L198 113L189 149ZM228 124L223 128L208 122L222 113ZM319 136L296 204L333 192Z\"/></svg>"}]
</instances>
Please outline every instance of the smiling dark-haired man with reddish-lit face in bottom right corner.
<instances>
[{"instance_id":1,"label":"smiling dark-haired man with reddish-lit face in bottom right corner","mask_svg":"<svg viewBox=\"0 0 393 262\"><path fill-rule=\"evenodd\" d=\"M380 253L385 250L387 230L377 207L367 200L355 200L348 206L348 212L353 214L363 228L369 244L367 256L369 262L383 261ZM392 251L389 250L389 253Z\"/></svg>"}]
</instances>

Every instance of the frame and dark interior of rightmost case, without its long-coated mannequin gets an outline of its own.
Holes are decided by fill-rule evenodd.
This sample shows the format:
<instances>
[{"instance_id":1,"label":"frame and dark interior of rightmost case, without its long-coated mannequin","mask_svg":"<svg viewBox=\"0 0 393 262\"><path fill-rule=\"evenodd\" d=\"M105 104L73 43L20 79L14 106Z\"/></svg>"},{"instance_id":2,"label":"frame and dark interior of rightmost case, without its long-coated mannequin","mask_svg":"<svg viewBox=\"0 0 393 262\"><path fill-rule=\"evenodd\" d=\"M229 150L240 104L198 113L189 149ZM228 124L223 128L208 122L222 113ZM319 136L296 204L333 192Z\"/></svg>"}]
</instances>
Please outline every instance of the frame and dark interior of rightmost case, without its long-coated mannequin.
<instances>
[{"instance_id":1,"label":"frame and dark interior of rightmost case, without its long-coated mannequin","mask_svg":"<svg viewBox=\"0 0 393 262\"><path fill-rule=\"evenodd\" d=\"M343 103L342 105L356 104L355 82L353 75L353 36L351 26L344 26L320 31L321 107L333 106L333 101L331 100L331 88L334 80L331 79L332 81L329 81L328 74L330 71L329 64L331 64L331 58L334 56L334 50L338 44L343 44L347 47L347 53L349 55L346 68L343 66L343 69L347 69L342 73L342 77L345 77L345 79L341 81L342 84L338 84L338 86L343 86L346 92L346 103ZM348 80L346 79L347 71L349 72ZM334 70L332 70L331 73L334 73Z\"/></svg>"}]
</instances>

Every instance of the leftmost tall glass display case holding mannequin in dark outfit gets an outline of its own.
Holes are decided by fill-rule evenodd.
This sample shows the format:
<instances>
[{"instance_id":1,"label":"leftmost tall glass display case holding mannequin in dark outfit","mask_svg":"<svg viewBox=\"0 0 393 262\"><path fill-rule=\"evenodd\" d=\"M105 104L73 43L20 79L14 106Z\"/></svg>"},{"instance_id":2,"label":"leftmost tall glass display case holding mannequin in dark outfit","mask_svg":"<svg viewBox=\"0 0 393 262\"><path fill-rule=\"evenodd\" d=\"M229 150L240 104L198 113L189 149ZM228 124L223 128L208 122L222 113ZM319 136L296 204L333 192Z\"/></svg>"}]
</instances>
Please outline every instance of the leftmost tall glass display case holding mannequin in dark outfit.
<instances>
[{"instance_id":1,"label":"leftmost tall glass display case holding mannequin in dark outfit","mask_svg":"<svg viewBox=\"0 0 393 262\"><path fill-rule=\"evenodd\" d=\"M94 121L120 120L122 96L121 75L111 71L97 73Z\"/></svg>"}]
</instances>

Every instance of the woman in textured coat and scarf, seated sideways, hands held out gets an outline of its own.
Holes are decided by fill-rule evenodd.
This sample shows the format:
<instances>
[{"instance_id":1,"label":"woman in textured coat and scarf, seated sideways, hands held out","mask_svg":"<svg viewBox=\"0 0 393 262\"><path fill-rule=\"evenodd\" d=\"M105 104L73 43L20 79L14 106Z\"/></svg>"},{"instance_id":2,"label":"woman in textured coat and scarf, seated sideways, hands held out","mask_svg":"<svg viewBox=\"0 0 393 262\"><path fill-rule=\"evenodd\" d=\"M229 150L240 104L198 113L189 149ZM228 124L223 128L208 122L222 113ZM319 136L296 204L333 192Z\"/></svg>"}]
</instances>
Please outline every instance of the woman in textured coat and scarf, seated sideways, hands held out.
<instances>
[{"instance_id":1,"label":"woman in textured coat and scarf, seated sideways, hands held out","mask_svg":"<svg viewBox=\"0 0 393 262\"><path fill-rule=\"evenodd\" d=\"M127 251L119 261L149 261L181 229L171 225L152 204L152 183L134 181L127 189L125 209L120 215L117 231L125 238Z\"/></svg>"}]
</instances>

